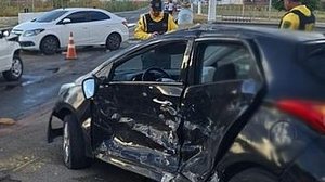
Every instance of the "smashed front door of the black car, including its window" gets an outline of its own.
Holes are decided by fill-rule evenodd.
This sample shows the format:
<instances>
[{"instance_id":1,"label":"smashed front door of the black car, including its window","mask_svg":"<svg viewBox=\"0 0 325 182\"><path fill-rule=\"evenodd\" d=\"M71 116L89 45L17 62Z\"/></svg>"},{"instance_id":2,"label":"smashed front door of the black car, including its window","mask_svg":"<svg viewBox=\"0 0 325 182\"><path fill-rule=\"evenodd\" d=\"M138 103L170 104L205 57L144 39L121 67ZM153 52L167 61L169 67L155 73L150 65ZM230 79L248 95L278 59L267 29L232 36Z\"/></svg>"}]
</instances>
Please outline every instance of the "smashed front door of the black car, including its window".
<instances>
[{"instance_id":1,"label":"smashed front door of the black car, including its window","mask_svg":"<svg viewBox=\"0 0 325 182\"><path fill-rule=\"evenodd\" d=\"M109 81L94 98L99 158L176 172L187 44L183 39L160 40L115 63Z\"/></svg>"}]
</instances>

